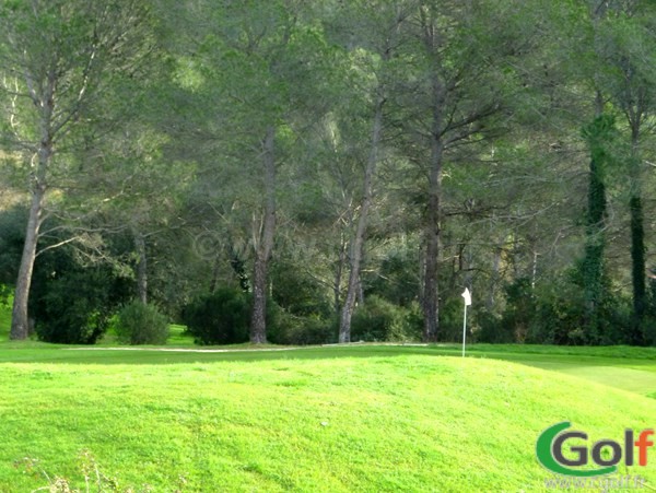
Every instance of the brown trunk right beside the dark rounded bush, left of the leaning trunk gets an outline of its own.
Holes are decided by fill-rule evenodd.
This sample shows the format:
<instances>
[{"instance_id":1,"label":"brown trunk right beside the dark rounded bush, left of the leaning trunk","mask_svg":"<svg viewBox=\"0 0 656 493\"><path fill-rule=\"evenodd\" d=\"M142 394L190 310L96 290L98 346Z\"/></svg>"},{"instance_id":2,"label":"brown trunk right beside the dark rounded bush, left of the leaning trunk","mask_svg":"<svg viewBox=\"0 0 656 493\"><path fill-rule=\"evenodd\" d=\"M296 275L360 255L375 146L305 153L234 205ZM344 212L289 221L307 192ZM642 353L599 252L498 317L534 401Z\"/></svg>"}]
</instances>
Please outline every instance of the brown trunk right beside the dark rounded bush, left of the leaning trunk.
<instances>
[{"instance_id":1,"label":"brown trunk right beside the dark rounded bush, left of the leaning trunk","mask_svg":"<svg viewBox=\"0 0 656 493\"><path fill-rule=\"evenodd\" d=\"M265 216L255 250L253 277L253 315L250 319L250 342L267 342L267 269L273 249L276 231L276 129L269 127L263 140L262 164L265 167Z\"/></svg>"}]
</instances>

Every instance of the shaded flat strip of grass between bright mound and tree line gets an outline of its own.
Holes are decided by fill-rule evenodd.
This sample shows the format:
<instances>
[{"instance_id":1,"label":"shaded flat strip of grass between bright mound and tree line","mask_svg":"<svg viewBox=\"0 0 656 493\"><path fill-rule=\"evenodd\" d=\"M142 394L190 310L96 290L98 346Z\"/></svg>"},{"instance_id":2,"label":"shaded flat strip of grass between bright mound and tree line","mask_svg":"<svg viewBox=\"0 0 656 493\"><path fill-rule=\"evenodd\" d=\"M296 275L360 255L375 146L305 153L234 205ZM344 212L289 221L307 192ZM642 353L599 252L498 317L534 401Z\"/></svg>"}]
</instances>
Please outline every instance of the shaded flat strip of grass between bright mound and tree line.
<instances>
[{"instance_id":1,"label":"shaded flat strip of grass between bright mound and tree line","mask_svg":"<svg viewBox=\"0 0 656 493\"><path fill-rule=\"evenodd\" d=\"M469 359L503 360L541 369L565 373L585 380L629 390L643 396L656 396L656 361L644 357L652 350L619 348L560 349L534 347L524 351L519 345L480 344L469 348ZM208 363L258 363L281 360L335 360L396 357L407 355L460 357L457 344L359 344L306 348L251 347L230 348L153 348L153 347L66 347L34 341L0 343L0 364L61 365L176 365ZM630 357L633 356L633 357Z\"/></svg>"}]
</instances>

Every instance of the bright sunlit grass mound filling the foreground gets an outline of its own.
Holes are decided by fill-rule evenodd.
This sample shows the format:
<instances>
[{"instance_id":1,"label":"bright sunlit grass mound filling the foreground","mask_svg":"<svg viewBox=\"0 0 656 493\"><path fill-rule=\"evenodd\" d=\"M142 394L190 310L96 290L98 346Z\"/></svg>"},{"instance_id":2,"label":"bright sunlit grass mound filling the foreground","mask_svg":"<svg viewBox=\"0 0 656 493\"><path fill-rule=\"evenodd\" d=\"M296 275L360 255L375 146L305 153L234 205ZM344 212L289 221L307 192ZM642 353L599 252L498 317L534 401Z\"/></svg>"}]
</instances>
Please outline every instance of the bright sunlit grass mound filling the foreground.
<instances>
[{"instance_id":1,"label":"bright sunlit grass mound filling the foreground","mask_svg":"<svg viewBox=\"0 0 656 493\"><path fill-rule=\"evenodd\" d=\"M656 416L632 392L429 348L0 357L2 492L44 471L83 488L84 450L137 491L539 491L547 426L620 439ZM656 484L653 465L629 472Z\"/></svg>"}]
</instances>

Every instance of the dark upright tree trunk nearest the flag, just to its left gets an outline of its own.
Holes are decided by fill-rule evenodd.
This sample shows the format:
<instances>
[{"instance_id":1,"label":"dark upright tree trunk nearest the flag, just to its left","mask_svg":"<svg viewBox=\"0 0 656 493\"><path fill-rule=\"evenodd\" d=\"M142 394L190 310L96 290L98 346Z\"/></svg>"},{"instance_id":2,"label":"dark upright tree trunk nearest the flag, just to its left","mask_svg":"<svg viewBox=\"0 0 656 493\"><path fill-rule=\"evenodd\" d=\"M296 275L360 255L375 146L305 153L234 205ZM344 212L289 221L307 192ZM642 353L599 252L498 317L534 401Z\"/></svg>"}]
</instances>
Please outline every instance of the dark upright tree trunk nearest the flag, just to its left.
<instances>
[{"instance_id":1,"label":"dark upright tree trunk nearest the flag, just to its left","mask_svg":"<svg viewBox=\"0 0 656 493\"><path fill-rule=\"evenodd\" d=\"M424 230L425 262L422 310L424 316L424 342L437 340L438 322L438 290L437 260L440 255L441 233L441 193L442 165L444 143L442 141L442 107L444 104L444 87L437 74L433 75L433 126L431 132L431 161L429 168L429 203Z\"/></svg>"}]
</instances>

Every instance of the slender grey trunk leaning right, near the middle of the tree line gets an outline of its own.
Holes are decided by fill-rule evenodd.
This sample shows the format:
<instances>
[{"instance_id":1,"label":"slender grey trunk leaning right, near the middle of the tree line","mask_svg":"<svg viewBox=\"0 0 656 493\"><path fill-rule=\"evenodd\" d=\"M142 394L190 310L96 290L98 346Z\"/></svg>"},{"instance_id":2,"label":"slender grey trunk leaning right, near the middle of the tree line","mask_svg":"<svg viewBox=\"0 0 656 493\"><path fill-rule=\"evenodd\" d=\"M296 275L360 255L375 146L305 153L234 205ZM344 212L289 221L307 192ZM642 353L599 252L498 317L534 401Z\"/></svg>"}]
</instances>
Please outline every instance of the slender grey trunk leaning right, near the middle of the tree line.
<instances>
[{"instance_id":1,"label":"slender grey trunk leaning right, near the middle of the tree line","mask_svg":"<svg viewBox=\"0 0 656 493\"><path fill-rule=\"evenodd\" d=\"M385 98L378 96L374 113L374 128L372 130L372 146L364 172L363 199L355 227L355 236L351 244L351 269L349 272L349 284L347 286L347 296L341 312L339 324L339 342L351 341L351 317L355 308L355 300L360 287L360 270L362 267L362 255L364 249L364 239L366 225L368 222L368 211L372 206L372 189L376 164L378 163L378 152L380 148L380 138L383 133L383 106Z\"/></svg>"}]
</instances>

